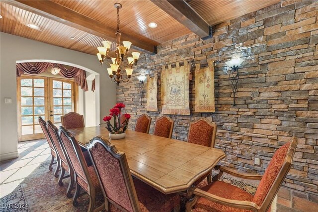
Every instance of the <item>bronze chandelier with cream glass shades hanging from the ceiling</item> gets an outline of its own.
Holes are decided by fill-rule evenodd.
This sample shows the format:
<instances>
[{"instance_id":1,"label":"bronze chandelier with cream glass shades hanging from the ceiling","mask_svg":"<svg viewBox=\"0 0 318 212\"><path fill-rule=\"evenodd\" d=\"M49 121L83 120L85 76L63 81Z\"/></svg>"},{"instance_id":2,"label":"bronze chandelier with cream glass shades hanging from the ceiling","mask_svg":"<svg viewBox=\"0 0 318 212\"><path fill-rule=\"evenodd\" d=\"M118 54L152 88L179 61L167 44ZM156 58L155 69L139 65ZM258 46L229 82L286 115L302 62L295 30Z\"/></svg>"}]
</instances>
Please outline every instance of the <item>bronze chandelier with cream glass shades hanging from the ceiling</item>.
<instances>
[{"instance_id":1,"label":"bronze chandelier with cream glass shades hanging from the ceiling","mask_svg":"<svg viewBox=\"0 0 318 212\"><path fill-rule=\"evenodd\" d=\"M119 29L119 9L122 7L120 3L115 3L114 6L117 8L117 30L116 30L116 40L117 40L117 48L114 52L110 52L110 41L103 41L103 46L97 47L98 52L97 57L100 63L100 66L103 65L103 62L105 58L111 59L112 64L110 64L110 68L107 68L107 72L109 74L110 79L113 82L117 83L117 86L120 83L120 80L123 82L128 82L130 80L130 77L133 73L133 65L137 65L138 59L139 59L139 52L132 52L132 57L128 56L128 51L131 46L131 42L129 41L123 41L123 45L120 44L120 29ZM124 66L123 62L124 59L128 61L128 65ZM126 70L127 79L124 80L122 77L122 74L120 73L122 70Z\"/></svg>"}]
</instances>

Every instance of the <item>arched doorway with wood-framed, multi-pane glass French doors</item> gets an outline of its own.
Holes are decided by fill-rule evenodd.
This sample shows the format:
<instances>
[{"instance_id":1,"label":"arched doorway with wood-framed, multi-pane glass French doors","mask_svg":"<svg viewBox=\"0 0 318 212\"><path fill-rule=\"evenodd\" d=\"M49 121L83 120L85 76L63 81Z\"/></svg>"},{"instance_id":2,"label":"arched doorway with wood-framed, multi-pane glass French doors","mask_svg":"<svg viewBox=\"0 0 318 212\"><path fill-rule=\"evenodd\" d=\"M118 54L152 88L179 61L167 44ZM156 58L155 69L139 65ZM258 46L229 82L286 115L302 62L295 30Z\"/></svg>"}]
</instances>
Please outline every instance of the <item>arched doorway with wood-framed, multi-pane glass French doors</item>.
<instances>
[{"instance_id":1,"label":"arched doorway with wood-framed, multi-pane glass French doors","mask_svg":"<svg viewBox=\"0 0 318 212\"><path fill-rule=\"evenodd\" d=\"M84 92L72 79L59 75L52 75L48 71L38 75L22 75L17 77L17 123L18 141L43 138L38 124L38 116L51 120L57 127L61 125L61 116L75 111L83 114L86 126L96 125L96 116L99 115L96 99L99 98L90 90L92 80L98 78L98 73L82 66L48 60L27 60L25 62L51 62L64 66L73 66L86 72L86 81L89 91Z\"/></svg>"}]
</instances>

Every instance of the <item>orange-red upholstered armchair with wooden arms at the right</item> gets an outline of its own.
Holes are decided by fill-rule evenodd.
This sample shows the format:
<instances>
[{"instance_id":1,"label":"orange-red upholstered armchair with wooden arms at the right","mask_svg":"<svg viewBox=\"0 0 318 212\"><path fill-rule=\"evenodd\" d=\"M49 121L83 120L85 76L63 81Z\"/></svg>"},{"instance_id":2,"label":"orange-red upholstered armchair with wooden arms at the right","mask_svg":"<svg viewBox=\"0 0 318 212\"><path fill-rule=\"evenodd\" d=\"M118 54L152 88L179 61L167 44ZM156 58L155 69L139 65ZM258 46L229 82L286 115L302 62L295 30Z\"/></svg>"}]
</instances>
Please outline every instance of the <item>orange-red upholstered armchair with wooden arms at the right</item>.
<instances>
[{"instance_id":1,"label":"orange-red upholstered armchair with wooden arms at the right","mask_svg":"<svg viewBox=\"0 0 318 212\"><path fill-rule=\"evenodd\" d=\"M220 173L213 177L213 182L201 189L190 188L188 193L194 197L186 204L187 212L217 211L217 212L268 212L280 186L290 170L297 138L280 147L271 159L265 173L261 175L246 175L217 167ZM231 184L218 181L223 172L233 176L260 180L254 196ZM193 208L193 209L192 209Z\"/></svg>"}]
</instances>

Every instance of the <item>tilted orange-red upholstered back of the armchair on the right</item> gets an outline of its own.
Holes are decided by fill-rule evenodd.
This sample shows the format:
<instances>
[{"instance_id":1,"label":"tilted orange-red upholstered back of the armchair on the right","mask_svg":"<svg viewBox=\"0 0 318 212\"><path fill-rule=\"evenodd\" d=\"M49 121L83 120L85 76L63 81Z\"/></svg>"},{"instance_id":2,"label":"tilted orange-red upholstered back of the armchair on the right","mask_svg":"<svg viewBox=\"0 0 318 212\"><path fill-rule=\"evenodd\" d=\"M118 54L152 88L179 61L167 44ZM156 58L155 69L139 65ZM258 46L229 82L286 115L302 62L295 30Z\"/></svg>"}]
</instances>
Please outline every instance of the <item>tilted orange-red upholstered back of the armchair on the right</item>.
<instances>
[{"instance_id":1,"label":"tilted orange-red upholstered back of the armchair on the right","mask_svg":"<svg viewBox=\"0 0 318 212\"><path fill-rule=\"evenodd\" d=\"M277 149L271 159L252 201L260 207L259 211L266 212L273 202L280 186L290 170L297 143L297 138L293 137L291 142L288 142ZM276 176L276 178L273 179L270 176Z\"/></svg>"}]
</instances>

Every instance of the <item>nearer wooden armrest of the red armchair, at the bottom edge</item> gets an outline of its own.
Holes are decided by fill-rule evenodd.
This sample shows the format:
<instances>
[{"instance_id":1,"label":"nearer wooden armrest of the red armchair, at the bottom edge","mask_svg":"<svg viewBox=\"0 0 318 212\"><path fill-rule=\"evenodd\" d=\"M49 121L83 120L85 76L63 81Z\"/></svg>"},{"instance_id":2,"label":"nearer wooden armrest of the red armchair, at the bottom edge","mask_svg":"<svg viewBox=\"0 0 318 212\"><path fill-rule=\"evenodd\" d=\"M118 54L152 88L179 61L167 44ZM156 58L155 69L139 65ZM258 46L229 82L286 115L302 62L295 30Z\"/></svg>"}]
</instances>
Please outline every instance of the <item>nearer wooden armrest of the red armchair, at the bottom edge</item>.
<instances>
[{"instance_id":1,"label":"nearer wooden armrest of the red armchair, at the bottom edge","mask_svg":"<svg viewBox=\"0 0 318 212\"><path fill-rule=\"evenodd\" d=\"M213 194L210 194L208 192L205 192L201 189L193 189L191 191L191 189L188 191L189 194L194 194L196 196L199 197L203 197L209 201L221 204L221 205L225 205L225 206L229 206L229 207L233 207L233 208L238 208L238 209L243 209L243 210L250 210L252 212L258 212L259 211L259 207L253 203L253 202L248 202L248 201L239 201L239 200L230 200L230 199L226 199L226 198L222 198Z\"/></svg>"}]
</instances>

